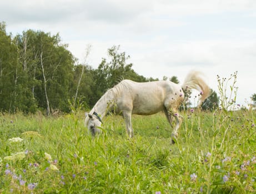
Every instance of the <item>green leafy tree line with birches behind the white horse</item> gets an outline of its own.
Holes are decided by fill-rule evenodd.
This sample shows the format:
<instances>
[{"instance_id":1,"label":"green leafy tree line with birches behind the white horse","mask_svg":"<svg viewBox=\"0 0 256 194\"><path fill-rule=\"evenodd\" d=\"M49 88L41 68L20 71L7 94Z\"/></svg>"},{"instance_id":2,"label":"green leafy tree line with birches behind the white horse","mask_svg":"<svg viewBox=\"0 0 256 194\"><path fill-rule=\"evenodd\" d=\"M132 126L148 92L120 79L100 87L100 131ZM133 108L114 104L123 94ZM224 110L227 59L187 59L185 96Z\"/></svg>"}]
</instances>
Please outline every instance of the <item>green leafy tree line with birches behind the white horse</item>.
<instances>
[{"instance_id":1,"label":"green leafy tree line with birches behind the white horse","mask_svg":"<svg viewBox=\"0 0 256 194\"><path fill-rule=\"evenodd\" d=\"M108 49L109 59L102 58L97 69L86 61L78 64L67 48L59 34L27 30L13 37L7 34L6 24L0 23L0 111L67 113L81 104L91 108L122 79L158 80L136 73L133 64L127 63L130 56L121 52L119 46ZM86 49L85 58L90 49ZM179 82L176 76L170 80ZM216 103L218 97L213 94Z\"/></svg>"}]
</instances>

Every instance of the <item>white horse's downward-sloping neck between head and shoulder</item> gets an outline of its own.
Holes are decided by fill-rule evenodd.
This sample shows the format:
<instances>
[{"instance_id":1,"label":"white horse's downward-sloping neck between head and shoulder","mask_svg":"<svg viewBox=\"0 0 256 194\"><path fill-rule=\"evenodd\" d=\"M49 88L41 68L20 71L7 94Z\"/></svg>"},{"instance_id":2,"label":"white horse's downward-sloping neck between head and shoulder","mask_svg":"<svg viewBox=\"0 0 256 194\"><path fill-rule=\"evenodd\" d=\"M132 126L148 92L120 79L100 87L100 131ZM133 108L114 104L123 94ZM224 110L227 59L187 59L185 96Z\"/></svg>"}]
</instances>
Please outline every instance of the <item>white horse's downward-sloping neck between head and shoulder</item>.
<instances>
[{"instance_id":1,"label":"white horse's downward-sloping neck between head and shoulder","mask_svg":"<svg viewBox=\"0 0 256 194\"><path fill-rule=\"evenodd\" d=\"M93 114L93 112L96 112L101 116L101 118L103 118L114 106L116 99L117 95L114 94L113 89L108 90L101 99L97 101L90 113Z\"/></svg>"}]
</instances>

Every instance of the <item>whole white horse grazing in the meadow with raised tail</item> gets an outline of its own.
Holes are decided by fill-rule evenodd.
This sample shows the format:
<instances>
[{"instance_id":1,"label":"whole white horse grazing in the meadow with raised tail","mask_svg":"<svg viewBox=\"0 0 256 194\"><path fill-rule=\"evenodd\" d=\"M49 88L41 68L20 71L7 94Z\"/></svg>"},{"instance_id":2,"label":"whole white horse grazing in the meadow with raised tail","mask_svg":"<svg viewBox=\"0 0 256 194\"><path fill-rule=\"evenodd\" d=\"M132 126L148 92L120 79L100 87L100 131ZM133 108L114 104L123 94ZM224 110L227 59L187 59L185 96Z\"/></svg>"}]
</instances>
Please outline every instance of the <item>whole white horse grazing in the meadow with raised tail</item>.
<instances>
[{"instance_id":1,"label":"whole white horse grazing in the meadow with raised tail","mask_svg":"<svg viewBox=\"0 0 256 194\"><path fill-rule=\"evenodd\" d=\"M174 116L176 125L172 137L177 137L182 122L178 108L184 100L185 90L197 89L200 92L199 105L209 95L209 86L200 75L202 75L200 72L190 72L182 85L172 81L138 83L132 80L123 80L109 89L97 101L90 113L86 113L84 124L93 135L101 132L99 126L102 126L102 118L115 106L117 113L123 114L129 137L133 137L132 114L152 115L164 111L171 126L172 116Z\"/></svg>"}]
</instances>

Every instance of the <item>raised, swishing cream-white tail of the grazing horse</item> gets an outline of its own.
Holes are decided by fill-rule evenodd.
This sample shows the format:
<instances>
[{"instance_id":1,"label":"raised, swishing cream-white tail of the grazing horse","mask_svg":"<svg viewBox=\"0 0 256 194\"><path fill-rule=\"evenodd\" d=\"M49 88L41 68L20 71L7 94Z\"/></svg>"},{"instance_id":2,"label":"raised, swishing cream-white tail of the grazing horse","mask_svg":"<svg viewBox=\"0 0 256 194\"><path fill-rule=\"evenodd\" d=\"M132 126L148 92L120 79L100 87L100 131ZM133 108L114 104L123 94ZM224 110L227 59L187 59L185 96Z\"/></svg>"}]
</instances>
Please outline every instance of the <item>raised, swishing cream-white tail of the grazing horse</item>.
<instances>
[{"instance_id":1,"label":"raised, swishing cream-white tail of the grazing horse","mask_svg":"<svg viewBox=\"0 0 256 194\"><path fill-rule=\"evenodd\" d=\"M196 89L200 92L201 98L199 106L203 103L205 99L208 98L210 94L210 88L202 79L202 73L197 71L191 71L186 76L185 81L182 85L184 93L190 92L191 89Z\"/></svg>"}]
</instances>

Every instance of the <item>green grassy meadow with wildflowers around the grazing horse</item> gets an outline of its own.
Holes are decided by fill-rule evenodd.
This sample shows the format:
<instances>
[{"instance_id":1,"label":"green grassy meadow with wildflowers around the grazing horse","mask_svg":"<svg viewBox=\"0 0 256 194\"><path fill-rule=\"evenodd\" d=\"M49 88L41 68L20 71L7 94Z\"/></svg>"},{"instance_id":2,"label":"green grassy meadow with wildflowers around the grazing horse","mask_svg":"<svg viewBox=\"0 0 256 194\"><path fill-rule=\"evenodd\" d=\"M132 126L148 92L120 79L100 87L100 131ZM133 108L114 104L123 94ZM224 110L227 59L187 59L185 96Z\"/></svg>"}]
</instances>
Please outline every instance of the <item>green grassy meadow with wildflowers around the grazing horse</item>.
<instances>
[{"instance_id":1,"label":"green grassy meadow with wildflowers around the grazing horse","mask_svg":"<svg viewBox=\"0 0 256 194\"><path fill-rule=\"evenodd\" d=\"M255 193L255 112L180 114L174 145L163 113L134 115L134 139L121 116L92 137L81 112L1 114L0 192Z\"/></svg>"}]
</instances>

